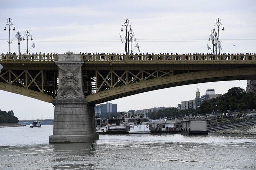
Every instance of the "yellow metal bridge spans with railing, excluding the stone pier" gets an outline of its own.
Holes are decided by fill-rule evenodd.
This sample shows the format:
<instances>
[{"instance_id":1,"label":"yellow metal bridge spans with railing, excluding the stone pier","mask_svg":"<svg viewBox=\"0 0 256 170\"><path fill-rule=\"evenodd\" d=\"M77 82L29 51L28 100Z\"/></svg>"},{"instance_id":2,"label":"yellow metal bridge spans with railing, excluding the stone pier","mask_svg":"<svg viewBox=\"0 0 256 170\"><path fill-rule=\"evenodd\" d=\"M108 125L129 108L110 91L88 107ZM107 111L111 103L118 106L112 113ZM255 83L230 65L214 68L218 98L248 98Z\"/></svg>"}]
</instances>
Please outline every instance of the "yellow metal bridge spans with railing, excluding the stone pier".
<instances>
[{"instance_id":1,"label":"yellow metal bridge spans with railing, excluding the stone pier","mask_svg":"<svg viewBox=\"0 0 256 170\"><path fill-rule=\"evenodd\" d=\"M90 103L186 84L256 79L256 55L80 54ZM52 102L58 93L58 54L0 54L0 89Z\"/></svg>"}]
</instances>

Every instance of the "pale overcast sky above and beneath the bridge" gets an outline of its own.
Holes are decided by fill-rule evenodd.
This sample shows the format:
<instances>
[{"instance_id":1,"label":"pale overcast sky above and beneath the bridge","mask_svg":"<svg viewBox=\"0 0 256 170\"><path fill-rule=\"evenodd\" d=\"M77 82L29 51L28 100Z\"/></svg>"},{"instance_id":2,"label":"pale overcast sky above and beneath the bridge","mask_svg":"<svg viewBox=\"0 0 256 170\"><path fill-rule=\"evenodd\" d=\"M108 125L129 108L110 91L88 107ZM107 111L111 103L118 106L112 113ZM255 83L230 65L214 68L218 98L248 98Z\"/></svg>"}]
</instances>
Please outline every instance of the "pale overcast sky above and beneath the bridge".
<instances>
[{"instance_id":1,"label":"pale overcast sky above and beneath the bridge","mask_svg":"<svg viewBox=\"0 0 256 170\"><path fill-rule=\"evenodd\" d=\"M125 3L124 3L125 2ZM0 53L9 52L9 38L4 25L13 19L16 31L31 31L36 47L32 52L65 53L66 51L124 53L119 33L128 18L142 53L207 53L206 43L215 20L222 19L225 31L220 32L223 52L256 52L256 1L171 1L171 0L60 0L14 1L0 0ZM33 42L29 42L29 46ZM25 42L20 49L25 53ZM133 46L135 43L133 43ZM234 46L235 45L235 46ZM29 47L30 48L30 47ZM16 40L11 52L18 52ZM135 49L135 52L136 51ZM4 64L3 64L4 65ZM246 80L201 83L201 95L206 89L226 93L234 86L246 87ZM118 111L152 107L177 107L181 101L195 98L197 84L172 87L116 99ZM50 103L18 94L0 91L0 109L13 110L20 120L53 118Z\"/></svg>"}]
</instances>

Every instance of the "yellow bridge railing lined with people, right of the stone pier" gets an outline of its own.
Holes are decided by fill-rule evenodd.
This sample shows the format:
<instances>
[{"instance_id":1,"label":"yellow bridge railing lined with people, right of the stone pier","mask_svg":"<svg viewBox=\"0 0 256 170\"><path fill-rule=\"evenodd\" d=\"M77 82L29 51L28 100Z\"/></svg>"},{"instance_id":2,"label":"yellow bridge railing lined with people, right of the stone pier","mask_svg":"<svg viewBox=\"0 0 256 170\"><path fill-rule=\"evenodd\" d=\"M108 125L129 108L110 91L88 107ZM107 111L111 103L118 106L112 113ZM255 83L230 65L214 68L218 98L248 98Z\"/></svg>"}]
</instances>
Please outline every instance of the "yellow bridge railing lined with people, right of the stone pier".
<instances>
[{"instance_id":1,"label":"yellow bridge railing lined with people, right of the stone pier","mask_svg":"<svg viewBox=\"0 0 256 170\"><path fill-rule=\"evenodd\" d=\"M88 62L255 62L256 55L115 55L82 54Z\"/></svg>"}]
</instances>

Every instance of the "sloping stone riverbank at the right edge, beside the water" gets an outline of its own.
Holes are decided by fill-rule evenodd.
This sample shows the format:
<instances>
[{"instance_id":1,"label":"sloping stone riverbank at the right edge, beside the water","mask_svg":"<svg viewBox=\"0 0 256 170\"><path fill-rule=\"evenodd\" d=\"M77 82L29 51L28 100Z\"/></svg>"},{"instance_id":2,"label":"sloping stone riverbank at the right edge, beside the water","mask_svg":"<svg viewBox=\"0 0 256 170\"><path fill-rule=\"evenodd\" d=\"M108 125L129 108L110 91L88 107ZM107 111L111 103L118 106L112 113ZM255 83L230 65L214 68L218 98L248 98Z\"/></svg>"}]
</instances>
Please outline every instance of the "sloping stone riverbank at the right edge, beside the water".
<instances>
[{"instance_id":1,"label":"sloping stone riverbank at the right edge, beside the water","mask_svg":"<svg viewBox=\"0 0 256 170\"><path fill-rule=\"evenodd\" d=\"M212 131L209 133L220 133L220 134L234 134L234 135L256 135L256 127L255 125L247 125L241 127L233 127L224 130ZM253 128L253 130L251 130Z\"/></svg>"}]
</instances>

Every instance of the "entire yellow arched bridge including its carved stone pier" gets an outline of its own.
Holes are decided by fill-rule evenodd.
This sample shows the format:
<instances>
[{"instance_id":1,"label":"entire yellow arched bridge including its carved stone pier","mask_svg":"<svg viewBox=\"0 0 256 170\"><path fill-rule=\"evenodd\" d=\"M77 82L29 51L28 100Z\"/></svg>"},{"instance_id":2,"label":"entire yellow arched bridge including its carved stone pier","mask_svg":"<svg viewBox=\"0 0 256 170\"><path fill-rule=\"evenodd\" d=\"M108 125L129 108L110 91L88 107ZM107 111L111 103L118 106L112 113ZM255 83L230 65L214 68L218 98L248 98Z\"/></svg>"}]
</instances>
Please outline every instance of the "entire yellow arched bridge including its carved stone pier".
<instances>
[{"instance_id":1,"label":"entire yellow arched bridge including its carved stone pier","mask_svg":"<svg viewBox=\"0 0 256 170\"><path fill-rule=\"evenodd\" d=\"M98 103L186 84L256 78L255 54L1 54L0 63L1 90L55 106L50 142L97 139Z\"/></svg>"}]
</instances>

